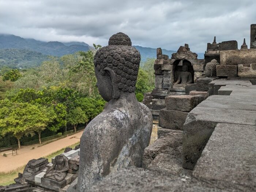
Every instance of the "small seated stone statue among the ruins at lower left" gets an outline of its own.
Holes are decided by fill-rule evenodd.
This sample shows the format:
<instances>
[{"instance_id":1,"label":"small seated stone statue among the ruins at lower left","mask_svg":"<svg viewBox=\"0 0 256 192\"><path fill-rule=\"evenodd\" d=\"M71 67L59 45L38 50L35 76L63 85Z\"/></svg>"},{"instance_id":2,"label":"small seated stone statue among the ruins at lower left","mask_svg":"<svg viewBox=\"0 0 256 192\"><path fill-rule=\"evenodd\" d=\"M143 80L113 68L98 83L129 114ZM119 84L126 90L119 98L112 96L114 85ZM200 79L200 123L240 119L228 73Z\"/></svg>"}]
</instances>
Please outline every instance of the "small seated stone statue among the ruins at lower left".
<instances>
[{"instance_id":1,"label":"small seated stone statue among the ruins at lower left","mask_svg":"<svg viewBox=\"0 0 256 192\"><path fill-rule=\"evenodd\" d=\"M57 155L53 165L44 174L44 178L63 181L67 176L68 169L68 158L63 154Z\"/></svg>"}]
</instances>

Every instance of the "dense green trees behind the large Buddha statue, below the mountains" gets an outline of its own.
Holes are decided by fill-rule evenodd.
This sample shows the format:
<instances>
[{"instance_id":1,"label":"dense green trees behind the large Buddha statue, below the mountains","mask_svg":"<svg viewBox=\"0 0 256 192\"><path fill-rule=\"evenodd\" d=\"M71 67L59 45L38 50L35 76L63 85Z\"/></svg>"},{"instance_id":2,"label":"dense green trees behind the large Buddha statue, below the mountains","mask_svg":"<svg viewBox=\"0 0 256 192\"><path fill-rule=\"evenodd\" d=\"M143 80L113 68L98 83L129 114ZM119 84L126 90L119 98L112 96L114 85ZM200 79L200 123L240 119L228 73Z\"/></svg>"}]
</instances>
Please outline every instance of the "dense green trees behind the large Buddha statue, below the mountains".
<instances>
[{"instance_id":1,"label":"dense green trees behind the large Buddha statue, below the mountains","mask_svg":"<svg viewBox=\"0 0 256 192\"><path fill-rule=\"evenodd\" d=\"M72 128L76 131L79 124L87 124L101 113L105 101L96 86L95 50L49 57L41 66L22 71L2 67L0 136L10 140L14 136L19 147L20 140L28 136L37 135L41 143L42 135ZM138 101L154 88L153 65L154 59L141 64L135 91ZM5 78L7 74L15 78ZM1 142L0 147L4 145Z\"/></svg>"}]
</instances>

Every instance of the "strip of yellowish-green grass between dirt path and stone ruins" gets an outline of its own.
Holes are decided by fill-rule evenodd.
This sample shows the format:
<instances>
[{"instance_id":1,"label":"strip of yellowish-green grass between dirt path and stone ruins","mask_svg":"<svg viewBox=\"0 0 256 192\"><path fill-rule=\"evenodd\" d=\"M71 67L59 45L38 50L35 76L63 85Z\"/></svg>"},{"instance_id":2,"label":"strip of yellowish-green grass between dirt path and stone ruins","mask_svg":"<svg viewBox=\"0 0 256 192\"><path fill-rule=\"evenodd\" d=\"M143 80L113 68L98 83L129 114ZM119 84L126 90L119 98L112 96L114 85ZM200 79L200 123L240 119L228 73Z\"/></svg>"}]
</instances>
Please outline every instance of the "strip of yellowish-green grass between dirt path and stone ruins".
<instances>
[{"instance_id":1,"label":"strip of yellowish-green grass between dirt path and stone ruins","mask_svg":"<svg viewBox=\"0 0 256 192\"><path fill-rule=\"evenodd\" d=\"M77 146L80 142L77 142L71 146L68 146L68 147L72 147L72 148L75 148L75 146ZM65 147L66 148L66 147ZM59 155L61 153L64 152L65 148L62 148L61 150L59 151L56 151L44 158L47 158L49 162L52 162L52 158L55 157L56 155ZM22 166L22 167L19 167L18 169L16 170L13 170L11 172L8 172L8 173L1 173L0 172L0 185L10 185L12 183L15 183L14 182L14 179L18 177L18 173L23 173L23 170L25 168L26 165Z\"/></svg>"}]
</instances>

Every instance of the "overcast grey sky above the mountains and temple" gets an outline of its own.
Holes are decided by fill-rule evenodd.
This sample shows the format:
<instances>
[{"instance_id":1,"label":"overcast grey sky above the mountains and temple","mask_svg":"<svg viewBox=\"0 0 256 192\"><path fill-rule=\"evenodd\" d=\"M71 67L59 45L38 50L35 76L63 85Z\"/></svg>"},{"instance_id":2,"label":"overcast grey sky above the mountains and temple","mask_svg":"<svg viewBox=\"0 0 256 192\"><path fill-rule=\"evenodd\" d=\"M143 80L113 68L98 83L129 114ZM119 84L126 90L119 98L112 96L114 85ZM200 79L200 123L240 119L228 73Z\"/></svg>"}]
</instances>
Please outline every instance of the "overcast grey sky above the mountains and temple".
<instances>
[{"instance_id":1,"label":"overcast grey sky above the mountains and temple","mask_svg":"<svg viewBox=\"0 0 256 192\"><path fill-rule=\"evenodd\" d=\"M203 53L217 42L249 45L256 0L0 0L0 33L103 46L123 32L133 45Z\"/></svg>"}]
</instances>

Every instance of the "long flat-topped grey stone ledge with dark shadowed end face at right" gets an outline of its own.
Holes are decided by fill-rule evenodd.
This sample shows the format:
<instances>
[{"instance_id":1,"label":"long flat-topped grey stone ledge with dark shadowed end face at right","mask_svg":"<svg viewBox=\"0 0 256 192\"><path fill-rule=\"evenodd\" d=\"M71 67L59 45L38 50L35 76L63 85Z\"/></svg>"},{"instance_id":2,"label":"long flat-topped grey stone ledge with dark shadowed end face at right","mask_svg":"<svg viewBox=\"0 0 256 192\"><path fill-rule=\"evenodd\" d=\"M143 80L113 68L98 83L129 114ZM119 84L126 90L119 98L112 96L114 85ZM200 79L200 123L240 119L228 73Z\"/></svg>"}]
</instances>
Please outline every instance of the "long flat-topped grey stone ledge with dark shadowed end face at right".
<instances>
[{"instance_id":1,"label":"long flat-topped grey stone ledge with dark shadowed end face at right","mask_svg":"<svg viewBox=\"0 0 256 192\"><path fill-rule=\"evenodd\" d=\"M255 126L255 88L237 87L236 81L226 82L233 83L231 95L212 95L187 116L183 126L184 168L193 169L217 123Z\"/></svg>"}]
</instances>

